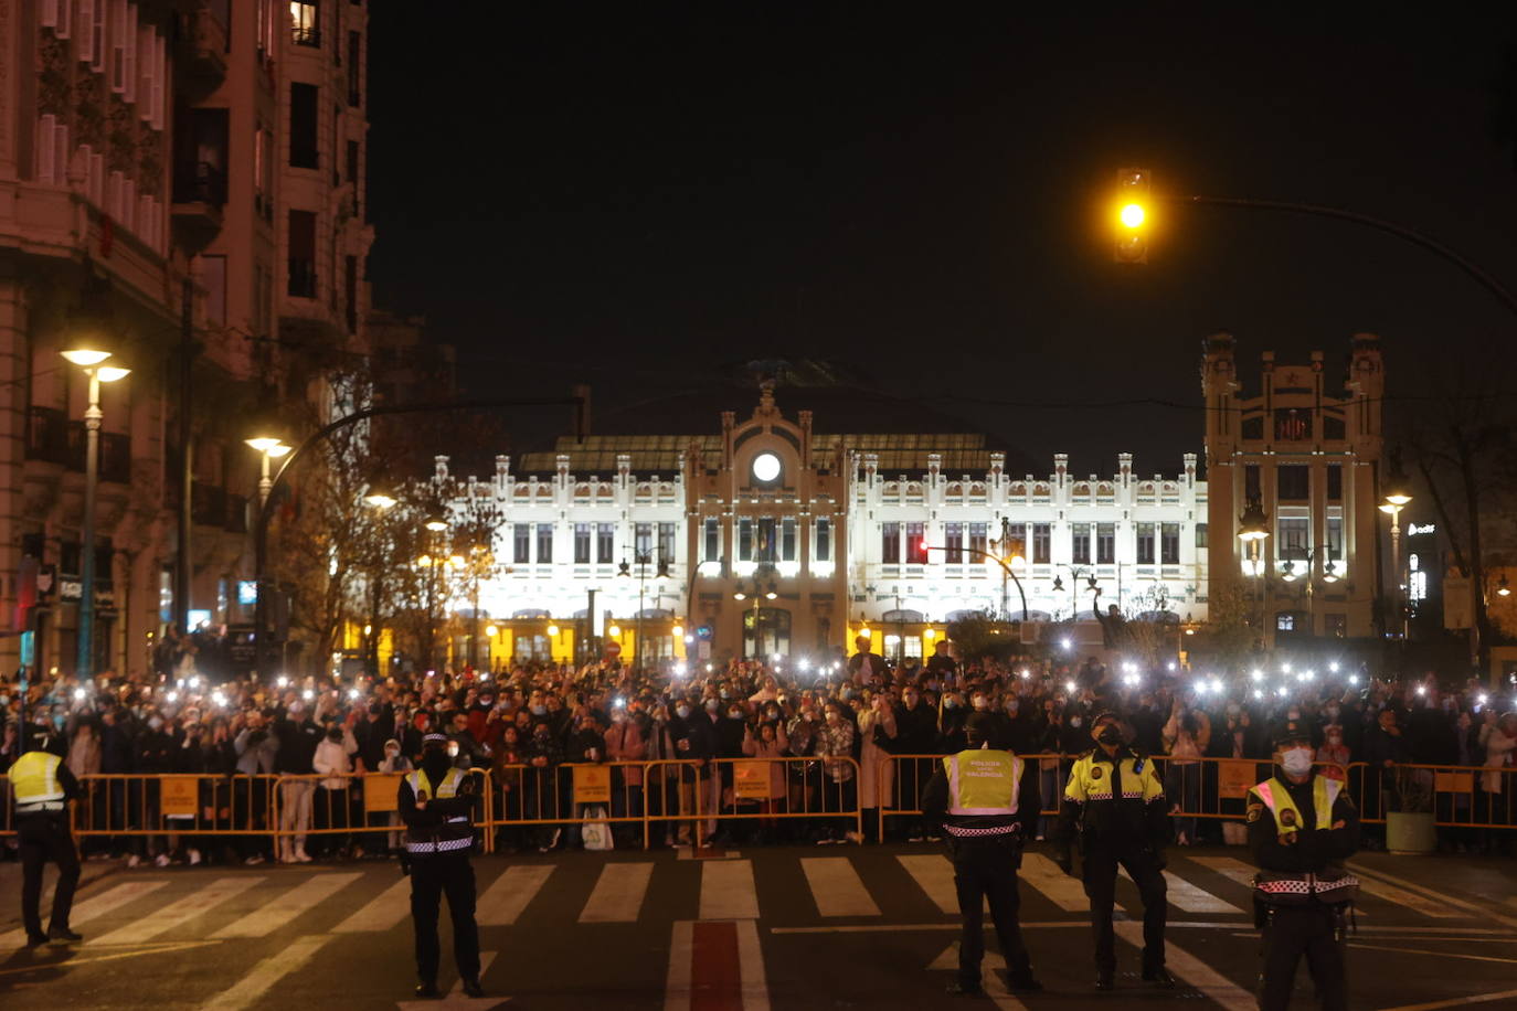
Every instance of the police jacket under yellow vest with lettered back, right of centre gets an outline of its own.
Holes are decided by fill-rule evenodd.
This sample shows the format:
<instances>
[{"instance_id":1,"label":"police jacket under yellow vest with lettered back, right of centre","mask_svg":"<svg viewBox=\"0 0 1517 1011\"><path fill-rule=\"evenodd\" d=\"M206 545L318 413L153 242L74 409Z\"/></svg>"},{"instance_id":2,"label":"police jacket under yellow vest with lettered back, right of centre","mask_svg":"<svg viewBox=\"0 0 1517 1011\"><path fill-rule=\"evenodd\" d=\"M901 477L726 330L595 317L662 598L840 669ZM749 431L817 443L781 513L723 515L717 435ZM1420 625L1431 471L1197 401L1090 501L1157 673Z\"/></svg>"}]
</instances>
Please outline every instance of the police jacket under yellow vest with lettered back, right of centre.
<instances>
[{"instance_id":1,"label":"police jacket under yellow vest with lettered back, right of centre","mask_svg":"<svg viewBox=\"0 0 1517 1011\"><path fill-rule=\"evenodd\" d=\"M922 790L922 814L954 838L1025 832L1041 808L1038 764L991 747L945 755Z\"/></svg>"}]
</instances>

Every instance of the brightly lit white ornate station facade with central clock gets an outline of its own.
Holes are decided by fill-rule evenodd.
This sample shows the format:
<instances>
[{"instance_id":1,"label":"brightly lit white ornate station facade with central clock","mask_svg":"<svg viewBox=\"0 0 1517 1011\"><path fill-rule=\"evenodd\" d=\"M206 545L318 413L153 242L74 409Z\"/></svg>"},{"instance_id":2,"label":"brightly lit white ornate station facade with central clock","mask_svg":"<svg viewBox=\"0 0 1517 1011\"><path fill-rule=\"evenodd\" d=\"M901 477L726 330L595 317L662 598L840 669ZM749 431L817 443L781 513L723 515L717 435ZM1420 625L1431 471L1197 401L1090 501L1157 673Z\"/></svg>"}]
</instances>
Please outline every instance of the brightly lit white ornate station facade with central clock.
<instances>
[{"instance_id":1,"label":"brightly lit white ornate station facade with central clock","mask_svg":"<svg viewBox=\"0 0 1517 1011\"><path fill-rule=\"evenodd\" d=\"M1095 603L1206 618L1195 453L1170 476L1138 474L1130 453L1104 476L1069 473L1062 453L1048 474L1013 476L983 435L816 426L766 387L749 417L722 412L704 437L592 435L498 458L466 485L502 515L479 599L492 656L566 659L596 637L645 659L828 662L859 634L930 655L968 611L1077 612L1095 641Z\"/></svg>"}]
</instances>

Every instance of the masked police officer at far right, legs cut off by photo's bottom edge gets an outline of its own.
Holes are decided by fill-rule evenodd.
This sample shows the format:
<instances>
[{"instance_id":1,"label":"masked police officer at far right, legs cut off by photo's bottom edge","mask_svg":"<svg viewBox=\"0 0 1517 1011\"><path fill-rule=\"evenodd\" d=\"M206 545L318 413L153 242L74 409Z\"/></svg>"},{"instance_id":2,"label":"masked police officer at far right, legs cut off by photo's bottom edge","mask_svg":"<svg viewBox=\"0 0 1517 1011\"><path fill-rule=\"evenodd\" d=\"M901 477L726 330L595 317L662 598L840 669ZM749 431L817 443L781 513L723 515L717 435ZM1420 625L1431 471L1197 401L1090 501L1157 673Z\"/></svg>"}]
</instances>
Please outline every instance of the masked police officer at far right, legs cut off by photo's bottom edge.
<instances>
[{"instance_id":1,"label":"masked police officer at far right, legs cut off by photo's bottom edge","mask_svg":"<svg viewBox=\"0 0 1517 1011\"><path fill-rule=\"evenodd\" d=\"M1276 775L1248 791L1248 847L1259 865L1255 914L1264 928L1262 1011L1289 1005L1296 966L1306 966L1324 1011L1349 1006L1344 916L1359 882L1343 861L1359 849L1359 811L1343 784L1312 768L1311 728L1274 734Z\"/></svg>"}]
</instances>

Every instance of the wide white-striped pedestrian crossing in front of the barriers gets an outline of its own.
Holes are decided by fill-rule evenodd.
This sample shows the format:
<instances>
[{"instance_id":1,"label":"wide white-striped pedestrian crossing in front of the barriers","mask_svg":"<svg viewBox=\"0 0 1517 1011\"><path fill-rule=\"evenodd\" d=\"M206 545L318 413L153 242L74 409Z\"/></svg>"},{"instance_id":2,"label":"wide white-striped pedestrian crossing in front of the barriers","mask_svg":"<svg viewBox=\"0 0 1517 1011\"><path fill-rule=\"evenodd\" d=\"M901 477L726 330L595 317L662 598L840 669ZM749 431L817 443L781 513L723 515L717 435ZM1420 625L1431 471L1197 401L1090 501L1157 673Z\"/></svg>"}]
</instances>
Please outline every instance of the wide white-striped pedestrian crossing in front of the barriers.
<instances>
[{"instance_id":1,"label":"wide white-striped pedestrian crossing in front of the barriers","mask_svg":"<svg viewBox=\"0 0 1517 1011\"><path fill-rule=\"evenodd\" d=\"M954 870L942 852L851 849L846 855L749 853L743 858L677 861L667 855L592 855L555 862L479 859L476 919L482 929L519 928L545 919L587 929L671 920L765 920L807 923L947 923L959 916ZM373 935L410 919L411 882L393 865L300 869L273 873L205 870L176 876L102 882L76 905L71 925L93 949L174 940L246 941L322 934ZM1253 869L1232 856L1171 855L1168 903L1185 914L1248 929ZM1362 876L1361 909L1380 922L1478 922L1468 908L1437 902L1394 879ZM1118 911L1136 909L1136 888L1118 887ZM1082 920L1089 909L1079 879L1047 855L1027 852L1021 865L1021 916ZM1126 905L1126 909L1124 909ZM44 911L46 912L46 911ZM1171 916L1171 919L1177 919ZM23 931L0 934L0 952L24 943Z\"/></svg>"}]
</instances>

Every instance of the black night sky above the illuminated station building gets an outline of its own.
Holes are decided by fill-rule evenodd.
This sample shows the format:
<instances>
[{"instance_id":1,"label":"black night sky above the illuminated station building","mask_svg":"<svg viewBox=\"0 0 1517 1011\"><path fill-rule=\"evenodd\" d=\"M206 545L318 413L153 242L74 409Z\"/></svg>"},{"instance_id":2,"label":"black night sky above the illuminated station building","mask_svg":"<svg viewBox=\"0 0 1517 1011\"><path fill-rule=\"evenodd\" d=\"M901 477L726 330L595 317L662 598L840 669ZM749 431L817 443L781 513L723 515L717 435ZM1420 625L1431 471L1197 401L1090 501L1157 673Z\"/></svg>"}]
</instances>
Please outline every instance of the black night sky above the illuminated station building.
<instances>
[{"instance_id":1,"label":"black night sky above the illuminated station building","mask_svg":"<svg viewBox=\"0 0 1517 1011\"><path fill-rule=\"evenodd\" d=\"M373 5L370 276L376 305L458 346L475 394L584 380L604 417L819 359L1045 473L1056 450L1109 473L1124 449L1151 473L1200 449L1218 329L1245 377L1262 350L1336 367L1377 332L1399 394L1429 362L1511 361L1511 314L1390 236L1180 209L1124 267L1106 217L1115 170L1141 165L1161 191L1391 218L1517 286L1509 20L444 6Z\"/></svg>"}]
</instances>

